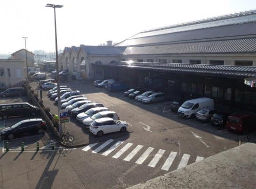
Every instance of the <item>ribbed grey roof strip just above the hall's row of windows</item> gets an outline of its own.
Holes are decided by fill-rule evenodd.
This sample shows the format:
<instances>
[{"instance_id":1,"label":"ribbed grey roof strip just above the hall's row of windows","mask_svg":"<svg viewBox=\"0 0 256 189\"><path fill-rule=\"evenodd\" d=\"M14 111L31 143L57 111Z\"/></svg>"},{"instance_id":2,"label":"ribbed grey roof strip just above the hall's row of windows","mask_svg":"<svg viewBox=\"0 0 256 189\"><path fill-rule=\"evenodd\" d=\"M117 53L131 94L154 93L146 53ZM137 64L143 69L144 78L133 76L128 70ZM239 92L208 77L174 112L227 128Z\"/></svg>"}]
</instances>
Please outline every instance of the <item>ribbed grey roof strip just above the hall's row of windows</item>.
<instances>
[{"instance_id":1,"label":"ribbed grey roof strip just above the hall's row of windows","mask_svg":"<svg viewBox=\"0 0 256 189\"><path fill-rule=\"evenodd\" d=\"M123 55L252 52L256 52L256 38L127 47Z\"/></svg>"}]
</instances>

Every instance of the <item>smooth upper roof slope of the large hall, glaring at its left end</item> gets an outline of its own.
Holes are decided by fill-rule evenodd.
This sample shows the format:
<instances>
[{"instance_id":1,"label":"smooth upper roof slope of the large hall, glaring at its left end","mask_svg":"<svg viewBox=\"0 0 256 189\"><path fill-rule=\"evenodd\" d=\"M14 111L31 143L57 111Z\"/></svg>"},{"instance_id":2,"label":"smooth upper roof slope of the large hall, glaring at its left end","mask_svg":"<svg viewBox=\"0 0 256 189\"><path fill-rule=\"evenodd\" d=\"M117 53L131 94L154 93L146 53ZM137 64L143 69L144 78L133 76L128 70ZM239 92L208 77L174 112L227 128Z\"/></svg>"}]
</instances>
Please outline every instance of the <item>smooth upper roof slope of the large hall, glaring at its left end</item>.
<instances>
[{"instance_id":1,"label":"smooth upper roof slope of the large hall, glaring at its left end","mask_svg":"<svg viewBox=\"0 0 256 189\"><path fill-rule=\"evenodd\" d=\"M256 22L238 25L219 26L191 31L176 32L170 34L160 34L154 36L129 38L116 46L135 46L155 43L178 43L188 40L202 40L232 36L244 36L256 34ZM136 35L135 35L136 36Z\"/></svg>"}]
</instances>

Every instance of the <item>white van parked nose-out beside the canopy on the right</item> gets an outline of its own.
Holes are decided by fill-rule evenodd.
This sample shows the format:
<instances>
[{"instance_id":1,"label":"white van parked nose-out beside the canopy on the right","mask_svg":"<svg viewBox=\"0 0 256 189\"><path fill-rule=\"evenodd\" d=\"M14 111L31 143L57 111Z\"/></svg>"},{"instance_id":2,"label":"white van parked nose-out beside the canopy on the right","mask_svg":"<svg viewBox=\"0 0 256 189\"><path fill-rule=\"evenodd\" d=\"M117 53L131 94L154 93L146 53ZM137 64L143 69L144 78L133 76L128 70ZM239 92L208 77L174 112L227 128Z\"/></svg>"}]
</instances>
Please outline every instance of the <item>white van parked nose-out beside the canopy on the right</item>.
<instances>
[{"instance_id":1,"label":"white van parked nose-out beside the canopy on the right","mask_svg":"<svg viewBox=\"0 0 256 189\"><path fill-rule=\"evenodd\" d=\"M214 108L214 101L211 98L191 99L182 104L178 110L178 115L186 118L194 118L196 112L201 108Z\"/></svg>"}]
</instances>

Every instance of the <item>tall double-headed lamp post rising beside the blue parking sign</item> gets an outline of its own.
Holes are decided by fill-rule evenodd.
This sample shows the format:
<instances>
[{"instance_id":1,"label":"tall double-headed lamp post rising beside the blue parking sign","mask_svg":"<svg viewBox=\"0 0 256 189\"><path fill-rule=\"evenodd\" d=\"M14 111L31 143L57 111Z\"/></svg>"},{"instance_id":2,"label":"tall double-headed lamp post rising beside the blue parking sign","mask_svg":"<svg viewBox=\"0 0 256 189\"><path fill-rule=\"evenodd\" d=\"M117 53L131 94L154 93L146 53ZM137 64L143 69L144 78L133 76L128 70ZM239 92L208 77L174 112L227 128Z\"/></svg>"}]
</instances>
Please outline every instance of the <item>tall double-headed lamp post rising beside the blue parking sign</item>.
<instances>
[{"instance_id":1,"label":"tall double-headed lamp post rising beside the blue parking sign","mask_svg":"<svg viewBox=\"0 0 256 189\"><path fill-rule=\"evenodd\" d=\"M56 77L57 77L57 94L58 94L58 115L59 115L59 134L62 133L62 124L60 122L60 79L59 79L59 62L58 62L58 45L57 45L57 28L56 28L56 13L55 8L62 8L63 5L53 5L53 4L46 4L46 7L51 7L54 9L54 24L55 24L55 55L56 55Z\"/></svg>"}]
</instances>

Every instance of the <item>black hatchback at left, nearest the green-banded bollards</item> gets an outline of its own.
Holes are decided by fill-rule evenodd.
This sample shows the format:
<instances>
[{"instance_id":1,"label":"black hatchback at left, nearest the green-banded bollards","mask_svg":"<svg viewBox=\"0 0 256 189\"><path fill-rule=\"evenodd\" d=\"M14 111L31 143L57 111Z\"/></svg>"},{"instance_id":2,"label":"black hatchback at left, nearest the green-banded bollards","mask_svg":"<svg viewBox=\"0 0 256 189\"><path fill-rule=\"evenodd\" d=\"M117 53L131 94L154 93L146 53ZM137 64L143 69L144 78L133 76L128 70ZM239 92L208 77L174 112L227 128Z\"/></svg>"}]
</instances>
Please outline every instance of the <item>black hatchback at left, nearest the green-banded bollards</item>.
<instances>
[{"instance_id":1,"label":"black hatchback at left, nearest the green-banded bollards","mask_svg":"<svg viewBox=\"0 0 256 189\"><path fill-rule=\"evenodd\" d=\"M22 120L18 123L4 128L0 131L0 137L4 139L13 139L26 133L37 132L42 134L47 129L46 122L42 119Z\"/></svg>"}]
</instances>

